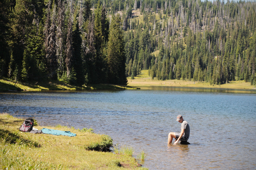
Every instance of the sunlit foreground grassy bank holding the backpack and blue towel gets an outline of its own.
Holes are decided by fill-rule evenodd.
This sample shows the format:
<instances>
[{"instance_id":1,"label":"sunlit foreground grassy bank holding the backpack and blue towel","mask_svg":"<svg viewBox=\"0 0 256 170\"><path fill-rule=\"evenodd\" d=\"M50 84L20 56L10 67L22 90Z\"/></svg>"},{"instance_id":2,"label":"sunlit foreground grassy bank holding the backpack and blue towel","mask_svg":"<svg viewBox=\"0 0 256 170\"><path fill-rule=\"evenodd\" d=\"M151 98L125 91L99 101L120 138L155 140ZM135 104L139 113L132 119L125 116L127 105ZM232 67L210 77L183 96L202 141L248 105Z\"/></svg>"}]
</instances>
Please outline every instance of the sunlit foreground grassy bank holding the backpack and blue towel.
<instances>
[{"instance_id":1,"label":"sunlit foreground grassy bank holding the backpack and blue towel","mask_svg":"<svg viewBox=\"0 0 256 170\"><path fill-rule=\"evenodd\" d=\"M137 161L126 154L102 152L112 145L106 135L89 129L45 127L76 133L76 137L23 133L23 123L6 113L0 113L0 169L8 170L122 170L136 169ZM42 129L41 126L35 126ZM98 151L95 151L98 150Z\"/></svg>"}]
</instances>

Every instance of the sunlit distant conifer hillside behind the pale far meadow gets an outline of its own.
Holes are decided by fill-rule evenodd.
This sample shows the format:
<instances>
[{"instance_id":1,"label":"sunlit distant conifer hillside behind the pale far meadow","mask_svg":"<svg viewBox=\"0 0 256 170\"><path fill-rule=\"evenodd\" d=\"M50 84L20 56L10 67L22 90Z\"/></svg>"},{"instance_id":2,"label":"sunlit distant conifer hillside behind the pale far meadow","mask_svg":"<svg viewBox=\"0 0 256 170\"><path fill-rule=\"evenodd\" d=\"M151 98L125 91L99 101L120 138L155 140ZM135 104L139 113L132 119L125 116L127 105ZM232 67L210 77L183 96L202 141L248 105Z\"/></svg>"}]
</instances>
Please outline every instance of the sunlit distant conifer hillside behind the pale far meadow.
<instances>
[{"instance_id":1,"label":"sunlit distant conifer hillside behind the pale far meadow","mask_svg":"<svg viewBox=\"0 0 256 170\"><path fill-rule=\"evenodd\" d=\"M144 0L136 5L143 21L124 9L126 76L149 69L159 80L256 84L255 2Z\"/></svg>"}]
</instances>

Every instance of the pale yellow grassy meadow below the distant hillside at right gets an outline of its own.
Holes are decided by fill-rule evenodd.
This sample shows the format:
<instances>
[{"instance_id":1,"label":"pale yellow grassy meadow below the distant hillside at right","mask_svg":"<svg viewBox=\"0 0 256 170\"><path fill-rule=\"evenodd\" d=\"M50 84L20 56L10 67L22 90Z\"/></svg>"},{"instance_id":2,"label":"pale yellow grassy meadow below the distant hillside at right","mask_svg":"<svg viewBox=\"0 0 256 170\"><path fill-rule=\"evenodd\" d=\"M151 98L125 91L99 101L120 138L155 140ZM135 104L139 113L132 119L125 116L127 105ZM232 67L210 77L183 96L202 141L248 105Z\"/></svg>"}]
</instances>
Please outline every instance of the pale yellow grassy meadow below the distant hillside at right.
<instances>
[{"instance_id":1,"label":"pale yellow grassy meadow below the distant hillside at right","mask_svg":"<svg viewBox=\"0 0 256 170\"><path fill-rule=\"evenodd\" d=\"M250 89L256 90L254 85L250 85L250 82L241 81L232 81L223 85L210 85L209 82L194 82L189 80L154 80L148 76L148 70L142 70L141 74L134 79L128 77L128 85L134 87L143 87L143 86L169 86L169 87L189 87L189 88L229 88L229 89Z\"/></svg>"}]
</instances>

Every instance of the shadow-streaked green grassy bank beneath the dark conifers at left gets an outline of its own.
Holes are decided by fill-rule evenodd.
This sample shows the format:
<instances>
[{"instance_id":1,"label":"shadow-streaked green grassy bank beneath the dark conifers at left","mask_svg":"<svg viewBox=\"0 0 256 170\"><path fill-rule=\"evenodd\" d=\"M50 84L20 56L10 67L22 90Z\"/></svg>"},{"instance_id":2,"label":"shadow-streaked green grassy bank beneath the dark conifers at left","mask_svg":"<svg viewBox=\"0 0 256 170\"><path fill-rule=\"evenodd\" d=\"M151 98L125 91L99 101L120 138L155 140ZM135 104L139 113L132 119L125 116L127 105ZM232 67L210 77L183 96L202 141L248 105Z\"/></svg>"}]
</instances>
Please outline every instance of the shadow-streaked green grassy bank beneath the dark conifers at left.
<instances>
[{"instance_id":1,"label":"shadow-streaked green grassy bank beneath the dark conifers at left","mask_svg":"<svg viewBox=\"0 0 256 170\"><path fill-rule=\"evenodd\" d=\"M137 89L129 86L97 84L87 86L73 86L64 82L52 81L52 82L29 82L21 83L8 79L0 79L0 91L57 91L57 90L125 90L125 89Z\"/></svg>"}]
</instances>

